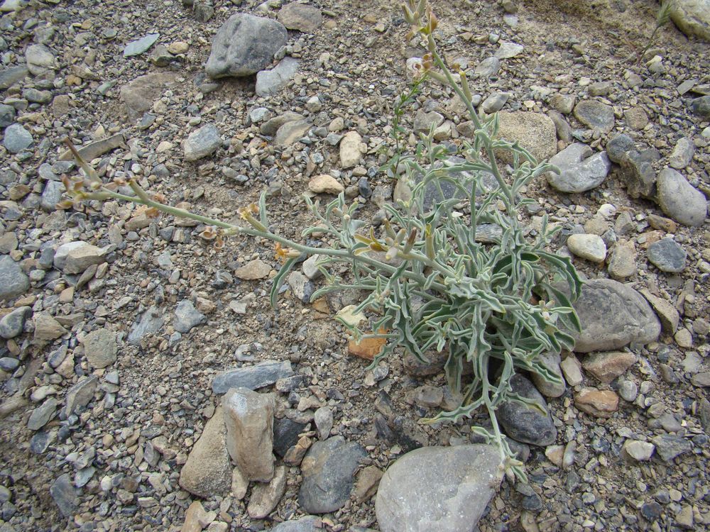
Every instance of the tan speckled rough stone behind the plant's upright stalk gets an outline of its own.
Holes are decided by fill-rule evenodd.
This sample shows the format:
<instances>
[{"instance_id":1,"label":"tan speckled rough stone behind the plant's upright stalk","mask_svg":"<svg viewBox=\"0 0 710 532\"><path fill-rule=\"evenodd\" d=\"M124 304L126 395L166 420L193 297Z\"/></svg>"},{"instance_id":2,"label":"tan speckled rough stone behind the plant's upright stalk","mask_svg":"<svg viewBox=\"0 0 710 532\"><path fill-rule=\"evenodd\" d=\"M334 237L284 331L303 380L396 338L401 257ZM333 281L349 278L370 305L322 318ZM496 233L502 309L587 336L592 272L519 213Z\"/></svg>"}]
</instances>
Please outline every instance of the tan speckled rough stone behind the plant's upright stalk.
<instances>
[{"instance_id":1,"label":"tan speckled rough stone behind the plant's upright stalk","mask_svg":"<svg viewBox=\"0 0 710 532\"><path fill-rule=\"evenodd\" d=\"M499 113L498 138L520 143L538 161L550 159L557 153L555 123L542 113L525 111ZM503 162L513 162L513 153L509 150L497 150L496 155Z\"/></svg>"}]
</instances>

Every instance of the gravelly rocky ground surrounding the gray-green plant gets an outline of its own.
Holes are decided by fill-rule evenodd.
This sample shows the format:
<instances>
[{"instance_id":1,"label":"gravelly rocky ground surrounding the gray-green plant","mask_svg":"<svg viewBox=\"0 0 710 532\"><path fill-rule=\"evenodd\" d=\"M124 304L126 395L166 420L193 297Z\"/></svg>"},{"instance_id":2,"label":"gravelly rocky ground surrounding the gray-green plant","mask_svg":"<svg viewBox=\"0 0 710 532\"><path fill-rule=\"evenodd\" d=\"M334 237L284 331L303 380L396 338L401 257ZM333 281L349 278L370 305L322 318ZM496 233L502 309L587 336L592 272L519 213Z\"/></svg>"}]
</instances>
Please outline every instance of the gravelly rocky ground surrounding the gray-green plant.
<instances>
[{"instance_id":1,"label":"gravelly rocky ground surrounding the gray-green plant","mask_svg":"<svg viewBox=\"0 0 710 532\"><path fill-rule=\"evenodd\" d=\"M479 109L562 170L521 216L562 226L553 248L590 279L576 352L547 362L567 387L514 383L550 414L501 411L528 482L493 494L471 421L417 424L451 404L440 366L366 370L332 320L356 296L305 303L310 262L271 309L268 241L215 250L131 205L56 209L69 137L107 180L202 214L234 220L268 187L299 238L301 195L344 190L377 225L404 194L378 168L422 55L397 2L5 0L0 531L710 526L708 42L671 23L637 63L652 0L433 3ZM702 34L704 16L675 19ZM405 116L432 123L442 143L471 133L436 84Z\"/></svg>"}]
</instances>

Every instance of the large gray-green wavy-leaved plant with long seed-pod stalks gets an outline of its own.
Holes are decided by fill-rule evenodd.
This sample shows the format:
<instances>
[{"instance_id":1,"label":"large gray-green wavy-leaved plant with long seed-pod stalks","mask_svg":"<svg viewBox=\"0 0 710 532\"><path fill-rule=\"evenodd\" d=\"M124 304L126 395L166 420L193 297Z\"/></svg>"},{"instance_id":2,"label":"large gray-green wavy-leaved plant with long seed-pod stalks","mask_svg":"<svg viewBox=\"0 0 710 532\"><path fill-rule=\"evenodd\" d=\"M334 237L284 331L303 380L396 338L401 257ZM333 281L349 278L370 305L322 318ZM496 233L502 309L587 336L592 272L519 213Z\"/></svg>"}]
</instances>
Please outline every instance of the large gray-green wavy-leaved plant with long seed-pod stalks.
<instances>
[{"instance_id":1,"label":"large gray-green wavy-leaved plant with long seed-pod stalks","mask_svg":"<svg viewBox=\"0 0 710 532\"><path fill-rule=\"evenodd\" d=\"M413 89L395 106L395 145L400 148L400 137L406 133L400 120L403 109L428 80L450 87L464 102L474 137L452 153L452 144L437 143L430 131L420 135L413 153L397 150L389 168L403 170L399 179L410 189L410 197L384 206L387 219L381 227L368 228L358 218L359 204L348 204L344 194L324 208L306 196L317 223L302 237L326 236L323 247L305 245L273 232L266 192L258 204L239 209L242 225L226 223L165 204L163 197L151 196L136 179L104 184L71 145L84 176L66 179L65 185L73 201L131 201L146 206L151 216L163 212L200 221L207 226L202 237L214 240L217 247L237 235L272 240L284 261L273 278L273 305L285 277L303 255L318 255L326 282L312 300L341 290L364 294L358 305L337 317L356 340L386 339L373 365L401 350L422 362L435 352L446 355L446 379L459 406L424 421L457 422L488 414L490 427L474 426L472 431L498 445L507 472L524 477L523 464L510 451L496 410L506 401L519 401L544 411L537 402L515 394L510 379L525 371L559 383L540 357L571 350L574 340L569 331L579 329L572 301L581 281L568 258L547 249L555 228L543 216L535 238L528 238L520 221L521 207L530 201L521 196L523 187L555 168L538 164L518 143L497 137L497 116L476 113L466 73L453 72L439 55L437 18L427 2L409 0L403 7L413 27L410 38L423 40L427 54L415 67ZM507 172L498 164L501 152L512 154ZM492 188L485 184L491 179L496 183ZM132 194L121 192L122 184ZM483 229L486 238L481 238ZM343 264L345 276L337 273ZM464 367L470 377L464 376Z\"/></svg>"}]
</instances>

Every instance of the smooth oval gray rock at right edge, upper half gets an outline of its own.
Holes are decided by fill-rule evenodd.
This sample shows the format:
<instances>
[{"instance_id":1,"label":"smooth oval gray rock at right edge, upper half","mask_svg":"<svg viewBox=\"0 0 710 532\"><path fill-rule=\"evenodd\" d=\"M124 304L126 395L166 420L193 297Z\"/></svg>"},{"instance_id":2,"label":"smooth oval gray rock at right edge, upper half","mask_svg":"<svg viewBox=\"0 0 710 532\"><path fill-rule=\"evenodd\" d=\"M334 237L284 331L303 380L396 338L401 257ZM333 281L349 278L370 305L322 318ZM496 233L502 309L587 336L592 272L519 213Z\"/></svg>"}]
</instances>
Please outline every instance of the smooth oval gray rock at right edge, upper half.
<instances>
[{"instance_id":1,"label":"smooth oval gray rock at right edge, upper half","mask_svg":"<svg viewBox=\"0 0 710 532\"><path fill-rule=\"evenodd\" d=\"M665 214L686 226L702 225L707 216L707 199L682 174L664 168L658 174L656 187L658 204Z\"/></svg>"}]
</instances>

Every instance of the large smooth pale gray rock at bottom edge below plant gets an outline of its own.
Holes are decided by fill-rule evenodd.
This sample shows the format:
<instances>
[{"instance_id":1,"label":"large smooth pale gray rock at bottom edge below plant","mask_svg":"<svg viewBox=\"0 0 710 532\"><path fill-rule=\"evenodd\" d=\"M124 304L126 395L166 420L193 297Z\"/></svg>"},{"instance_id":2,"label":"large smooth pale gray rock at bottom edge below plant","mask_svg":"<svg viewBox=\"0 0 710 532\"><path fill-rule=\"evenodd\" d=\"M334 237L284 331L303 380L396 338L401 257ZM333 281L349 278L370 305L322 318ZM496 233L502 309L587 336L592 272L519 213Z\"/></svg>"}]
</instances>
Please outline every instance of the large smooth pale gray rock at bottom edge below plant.
<instances>
[{"instance_id":1,"label":"large smooth pale gray rock at bottom edge below plant","mask_svg":"<svg viewBox=\"0 0 710 532\"><path fill-rule=\"evenodd\" d=\"M492 445L425 447L403 455L380 481L382 532L471 532L501 482Z\"/></svg>"}]
</instances>

